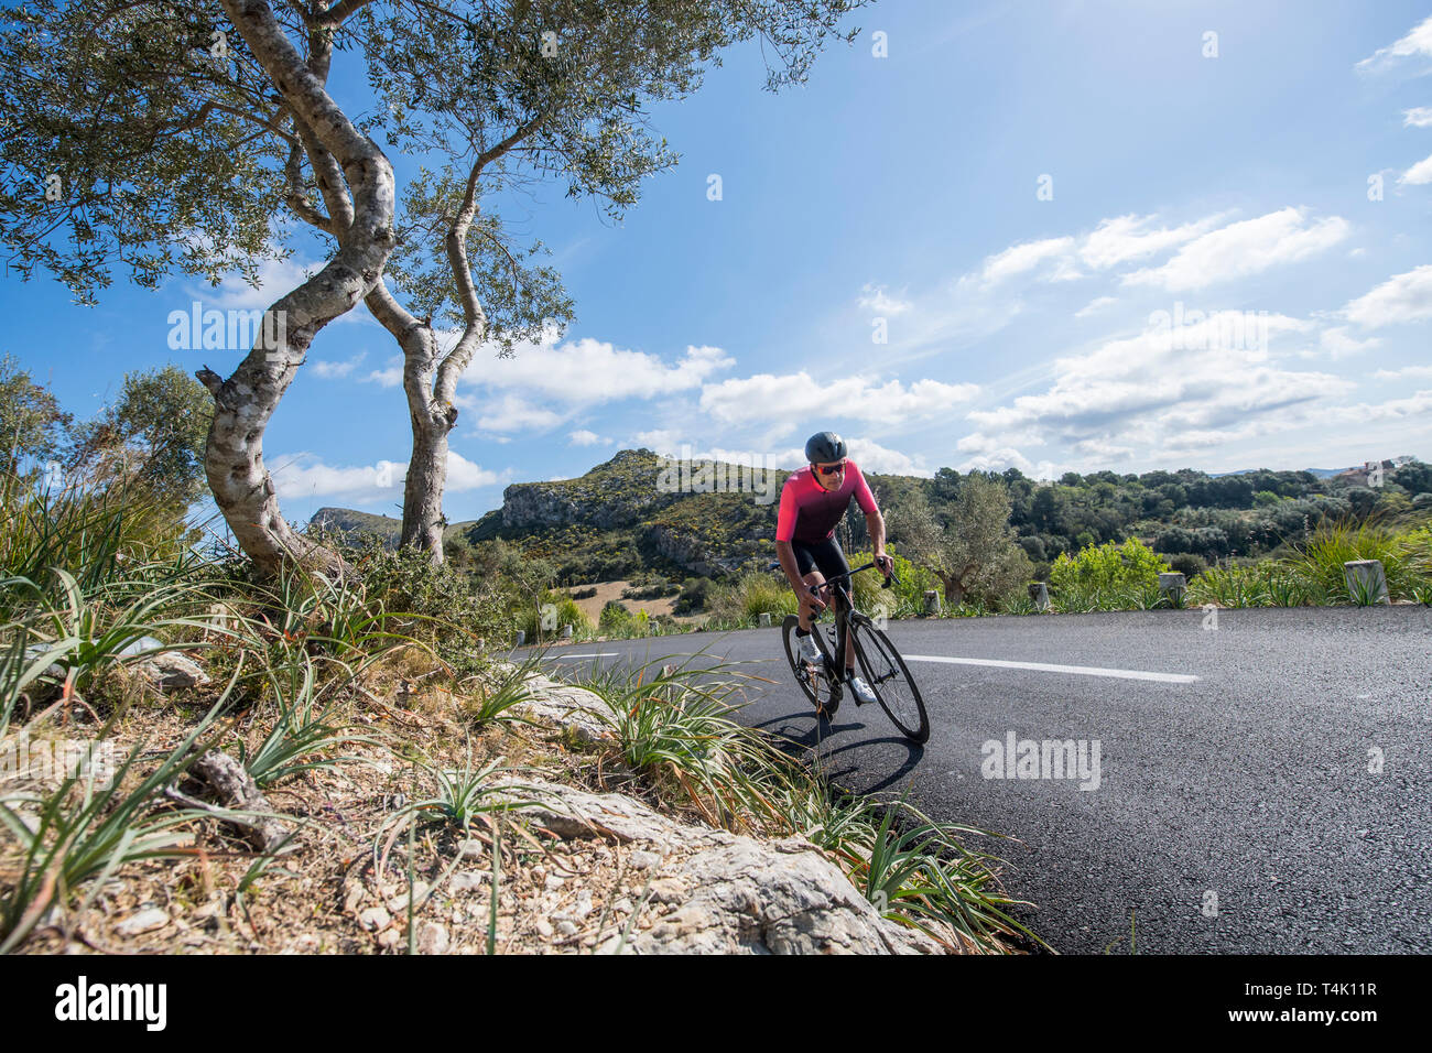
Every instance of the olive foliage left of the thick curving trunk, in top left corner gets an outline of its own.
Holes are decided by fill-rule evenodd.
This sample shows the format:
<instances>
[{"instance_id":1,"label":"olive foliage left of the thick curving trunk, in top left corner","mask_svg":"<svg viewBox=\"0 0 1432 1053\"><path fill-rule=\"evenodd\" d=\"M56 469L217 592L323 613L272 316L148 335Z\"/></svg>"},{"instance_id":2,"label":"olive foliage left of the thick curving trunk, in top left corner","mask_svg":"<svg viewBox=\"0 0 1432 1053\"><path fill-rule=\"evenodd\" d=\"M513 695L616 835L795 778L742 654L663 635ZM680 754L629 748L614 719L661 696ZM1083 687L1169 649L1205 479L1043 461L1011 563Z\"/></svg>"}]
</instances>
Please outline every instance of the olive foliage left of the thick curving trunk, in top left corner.
<instances>
[{"instance_id":1,"label":"olive foliage left of the thick curving trunk, in top left corner","mask_svg":"<svg viewBox=\"0 0 1432 1053\"><path fill-rule=\"evenodd\" d=\"M266 76L216 9L106 10L32 0L0 11L0 246L93 304L117 262L156 288L172 271L218 284L276 258L286 145L263 133ZM203 47L182 42L202 40ZM258 135L256 135L258 133Z\"/></svg>"}]
</instances>

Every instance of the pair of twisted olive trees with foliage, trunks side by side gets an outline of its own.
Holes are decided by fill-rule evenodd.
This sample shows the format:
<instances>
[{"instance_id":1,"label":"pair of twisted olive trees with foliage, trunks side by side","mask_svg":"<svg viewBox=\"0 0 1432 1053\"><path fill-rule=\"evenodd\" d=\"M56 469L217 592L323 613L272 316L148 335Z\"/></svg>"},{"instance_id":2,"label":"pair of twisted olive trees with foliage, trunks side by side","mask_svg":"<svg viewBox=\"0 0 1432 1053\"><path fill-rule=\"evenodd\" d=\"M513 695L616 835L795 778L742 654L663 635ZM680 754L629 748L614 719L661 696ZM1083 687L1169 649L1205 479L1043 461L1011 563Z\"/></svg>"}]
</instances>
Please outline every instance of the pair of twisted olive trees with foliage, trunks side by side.
<instances>
[{"instance_id":1,"label":"pair of twisted olive trees with foliage, trunks side by side","mask_svg":"<svg viewBox=\"0 0 1432 1053\"><path fill-rule=\"evenodd\" d=\"M40 265L93 302L115 261L147 287L175 269L252 279L281 252L269 228L285 212L326 234L329 259L271 305L239 367L196 371L215 400L209 486L261 569L291 556L341 567L284 520L262 438L312 340L365 299L404 350L404 540L440 559L457 378L484 342L510 350L570 317L554 272L520 262L531 252L478 215L484 186L503 185L511 155L620 215L674 162L646 132L647 100L695 89L722 47L756 36L775 56L768 86L799 80L828 37L853 36L838 24L859 3L36 0L0 13L0 90L19 132L0 150L0 242L21 274ZM385 103L367 125L326 90L345 44L361 46ZM407 229L427 244L400 236L375 128L450 158L407 195ZM382 282L400 244L408 308ZM444 311L461 325L445 351L432 328Z\"/></svg>"}]
</instances>

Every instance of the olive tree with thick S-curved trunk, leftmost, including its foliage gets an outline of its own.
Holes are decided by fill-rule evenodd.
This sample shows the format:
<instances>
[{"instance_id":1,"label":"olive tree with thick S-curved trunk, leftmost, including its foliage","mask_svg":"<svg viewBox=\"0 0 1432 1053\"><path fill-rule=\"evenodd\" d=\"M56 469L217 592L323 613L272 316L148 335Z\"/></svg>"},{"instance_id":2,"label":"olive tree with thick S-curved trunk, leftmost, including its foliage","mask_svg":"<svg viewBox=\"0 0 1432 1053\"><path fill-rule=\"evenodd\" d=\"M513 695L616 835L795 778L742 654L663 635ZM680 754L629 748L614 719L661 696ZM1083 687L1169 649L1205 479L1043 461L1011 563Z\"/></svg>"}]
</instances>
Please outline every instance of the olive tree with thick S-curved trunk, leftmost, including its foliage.
<instances>
[{"instance_id":1,"label":"olive tree with thick S-curved trunk, leftmost, including its foliage","mask_svg":"<svg viewBox=\"0 0 1432 1053\"><path fill-rule=\"evenodd\" d=\"M173 271L218 282L282 255L271 221L295 146L332 168L318 185L334 231L322 268L281 295L213 397L205 476L261 570L339 570L298 534L263 464L263 431L325 325L361 301L394 245L392 166L334 102L332 42L364 0L32 0L0 11L0 244L27 277L95 302L112 269L155 288Z\"/></svg>"}]
</instances>

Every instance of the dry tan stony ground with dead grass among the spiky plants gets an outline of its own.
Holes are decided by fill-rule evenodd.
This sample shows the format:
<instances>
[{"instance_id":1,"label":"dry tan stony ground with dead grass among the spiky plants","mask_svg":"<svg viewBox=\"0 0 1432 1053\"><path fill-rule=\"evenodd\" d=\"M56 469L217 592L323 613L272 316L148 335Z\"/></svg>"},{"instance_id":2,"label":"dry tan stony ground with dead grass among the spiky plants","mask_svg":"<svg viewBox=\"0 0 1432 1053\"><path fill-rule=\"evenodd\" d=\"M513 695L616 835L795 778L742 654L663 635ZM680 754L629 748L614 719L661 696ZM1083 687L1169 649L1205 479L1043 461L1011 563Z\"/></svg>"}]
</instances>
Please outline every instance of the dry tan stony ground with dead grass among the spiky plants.
<instances>
[{"instance_id":1,"label":"dry tan stony ground with dead grass among the spiky plants","mask_svg":"<svg viewBox=\"0 0 1432 1053\"><path fill-rule=\"evenodd\" d=\"M378 679L411 682L421 672L401 659ZM405 676L407 675L407 676ZM569 752L554 731L521 725L471 732L461 718L463 699L447 686L417 688L368 701L358 696L342 715L382 741L347 752L362 762L304 772L268 791L272 805L302 825L296 851L274 860L246 883L259 861L238 832L216 818L193 824L188 854L122 868L80 911L54 910L19 953L401 953L408 947L407 845L374 862L374 834L404 802L431 792L432 766L461 768L503 758L505 765L536 769L567 784L589 784L590 765ZM183 701L152 705L122 719L113 738L123 751L143 738L182 739L193 722ZM83 734L83 713L70 734ZM505 824L504 824L505 825ZM660 845L563 841L514 827L500 842L501 867L495 950L498 953L590 951L629 921L649 928L660 904L642 904L646 875L627 865L633 852ZM424 834L414 844L412 878L435 884L414 913L415 943L447 936L450 953L487 950L491 908L493 830L474 827L468 857L455 831ZM454 858L461 864L451 865ZM4 864L0 864L0 874ZM442 877L445 874L445 877ZM579 880L580 878L580 880ZM245 887L246 885L246 887ZM243 891L238 891L243 888ZM391 923L377 927L381 908ZM642 915L633 920L633 914ZM126 931L145 917L153 927ZM554 924L553 918L558 918ZM564 923L564 924L563 924Z\"/></svg>"}]
</instances>

